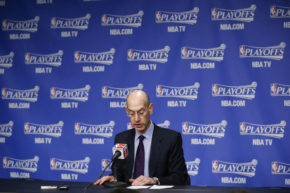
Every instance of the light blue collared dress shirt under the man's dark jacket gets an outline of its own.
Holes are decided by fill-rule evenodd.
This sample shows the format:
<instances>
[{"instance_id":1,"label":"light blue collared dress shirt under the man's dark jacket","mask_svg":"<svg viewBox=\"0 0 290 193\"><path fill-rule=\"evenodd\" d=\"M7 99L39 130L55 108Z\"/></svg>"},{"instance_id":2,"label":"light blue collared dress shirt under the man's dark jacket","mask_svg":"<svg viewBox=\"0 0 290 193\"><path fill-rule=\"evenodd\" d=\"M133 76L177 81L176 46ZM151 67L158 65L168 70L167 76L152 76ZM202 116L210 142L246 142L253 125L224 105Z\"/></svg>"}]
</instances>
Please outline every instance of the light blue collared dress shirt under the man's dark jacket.
<instances>
[{"instance_id":1,"label":"light blue collared dress shirt under the man's dark jacket","mask_svg":"<svg viewBox=\"0 0 290 193\"><path fill-rule=\"evenodd\" d=\"M144 150L145 150L145 160L144 160L144 176L146 177L150 177L149 176L149 158L150 158L150 149L151 149L151 140L152 140L152 134L153 134L153 128L154 125L152 123L152 121L150 120L151 125L148 128L147 131L145 131L145 133L143 133L143 136L145 137L143 139L143 145L144 145ZM139 145L139 136L141 134L138 133L137 130L135 130L135 141L134 141L134 165L133 165L133 169L132 169L132 173L131 173L131 179L133 179L133 175L134 175L134 167L135 167L135 157L136 157L136 151Z\"/></svg>"}]
</instances>

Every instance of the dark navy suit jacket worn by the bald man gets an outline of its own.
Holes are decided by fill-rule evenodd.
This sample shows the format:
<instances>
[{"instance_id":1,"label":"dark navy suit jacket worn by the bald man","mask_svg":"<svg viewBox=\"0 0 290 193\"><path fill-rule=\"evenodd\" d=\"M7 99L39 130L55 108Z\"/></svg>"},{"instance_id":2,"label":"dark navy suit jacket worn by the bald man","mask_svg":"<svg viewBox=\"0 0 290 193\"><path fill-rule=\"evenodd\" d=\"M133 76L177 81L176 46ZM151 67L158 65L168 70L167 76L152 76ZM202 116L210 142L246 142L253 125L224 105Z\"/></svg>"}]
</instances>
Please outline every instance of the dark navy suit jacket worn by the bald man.
<instances>
[{"instance_id":1,"label":"dark navy suit jacket worn by the bald man","mask_svg":"<svg viewBox=\"0 0 290 193\"><path fill-rule=\"evenodd\" d=\"M129 182L134 164L134 139L134 128L115 136L115 144L128 141L130 145L127 157L117 161L118 181ZM111 175L114 175L114 164L112 164L111 170ZM160 185L185 185L187 167L183 157L182 138L179 132L154 124L149 158L149 175L149 177L157 177Z\"/></svg>"}]
</instances>

